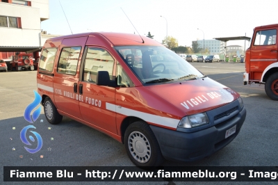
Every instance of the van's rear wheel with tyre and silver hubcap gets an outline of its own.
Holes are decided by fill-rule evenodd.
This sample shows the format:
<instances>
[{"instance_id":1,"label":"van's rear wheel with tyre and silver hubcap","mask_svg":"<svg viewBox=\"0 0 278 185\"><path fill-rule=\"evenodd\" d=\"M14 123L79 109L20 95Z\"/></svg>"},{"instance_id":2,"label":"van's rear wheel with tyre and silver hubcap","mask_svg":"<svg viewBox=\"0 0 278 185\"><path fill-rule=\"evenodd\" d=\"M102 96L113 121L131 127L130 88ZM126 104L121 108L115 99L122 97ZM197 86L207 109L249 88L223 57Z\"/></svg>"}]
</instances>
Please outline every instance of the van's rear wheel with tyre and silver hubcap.
<instances>
[{"instance_id":1,"label":"van's rear wheel with tyre and silver hubcap","mask_svg":"<svg viewBox=\"0 0 278 185\"><path fill-rule=\"evenodd\" d=\"M44 115L51 124L58 124L63 119L63 115L58 113L56 106L49 97L44 99Z\"/></svg>"}]
</instances>

